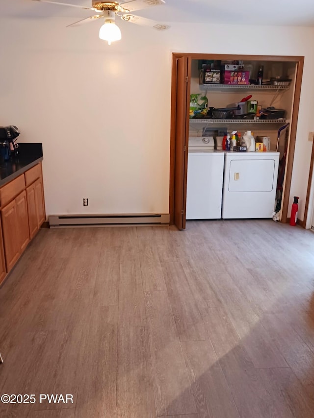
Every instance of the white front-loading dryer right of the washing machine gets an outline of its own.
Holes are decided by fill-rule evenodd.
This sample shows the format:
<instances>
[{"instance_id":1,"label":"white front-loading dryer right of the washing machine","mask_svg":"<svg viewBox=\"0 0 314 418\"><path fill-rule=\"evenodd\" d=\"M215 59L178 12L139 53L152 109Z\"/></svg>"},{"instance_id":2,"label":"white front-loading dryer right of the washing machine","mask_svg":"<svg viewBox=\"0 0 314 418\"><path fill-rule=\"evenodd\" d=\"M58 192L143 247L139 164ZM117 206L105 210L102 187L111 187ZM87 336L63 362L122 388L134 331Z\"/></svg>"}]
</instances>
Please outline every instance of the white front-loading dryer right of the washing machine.
<instances>
[{"instance_id":1,"label":"white front-loading dryer right of the washing machine","mask_svg":"<svg viewBox=\"0 0 314 418\"><path fill-rule=\"evenodd\" d=\"M279 152L225 152L222 218L272 218Z\"/></svg>"}]
</instances>

